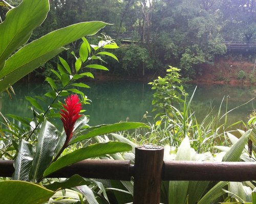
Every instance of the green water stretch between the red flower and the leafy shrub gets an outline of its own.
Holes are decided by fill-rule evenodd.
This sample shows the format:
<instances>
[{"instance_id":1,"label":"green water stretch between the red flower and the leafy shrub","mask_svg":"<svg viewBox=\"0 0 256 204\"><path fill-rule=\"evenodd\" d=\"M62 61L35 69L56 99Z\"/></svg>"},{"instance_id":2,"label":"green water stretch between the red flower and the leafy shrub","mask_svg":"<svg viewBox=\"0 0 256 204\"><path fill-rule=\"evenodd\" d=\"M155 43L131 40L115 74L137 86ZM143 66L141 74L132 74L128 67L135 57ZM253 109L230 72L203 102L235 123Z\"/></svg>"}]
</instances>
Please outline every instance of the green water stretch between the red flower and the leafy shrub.
<instances>
[{"instance_id":1,"label":"green water stretch between the red flower and the leafy shrub","mask_svg":"<svg viewBox=\"0 0 256 204\"><path fill-rule=\"evenodd\" d=\"M151 87L138 82L115 82L93 85L89 96L92 104L86 109L90 124L114 123L120 120L140 121L145 111L151 111Z\"/></svg>"}]
</instances>

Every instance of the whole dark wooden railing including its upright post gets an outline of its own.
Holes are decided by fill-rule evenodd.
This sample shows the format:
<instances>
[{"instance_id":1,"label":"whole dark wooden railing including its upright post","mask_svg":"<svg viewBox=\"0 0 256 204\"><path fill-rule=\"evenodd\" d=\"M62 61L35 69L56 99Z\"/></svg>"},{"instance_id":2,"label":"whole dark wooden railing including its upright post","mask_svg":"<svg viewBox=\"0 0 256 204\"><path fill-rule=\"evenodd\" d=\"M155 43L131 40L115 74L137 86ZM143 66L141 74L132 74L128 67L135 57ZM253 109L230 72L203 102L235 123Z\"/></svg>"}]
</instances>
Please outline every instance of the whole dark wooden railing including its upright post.
<instances>
[{"instance_id":1,"label":"whole dark wooden railing including its upright post","mask_svg":"<svg viewBox=\"0 0 256 204\"><path fill-rule=\"evenodd\" d=\"M93 179L134 181L133 204L159 204L161 181L253 181L256 162L163 161L163 147L139 146L130 161L84 160L48 177L79 174ZM0 160L0 176L10 177L13 161Z\"/></svg>"}]
</instances>

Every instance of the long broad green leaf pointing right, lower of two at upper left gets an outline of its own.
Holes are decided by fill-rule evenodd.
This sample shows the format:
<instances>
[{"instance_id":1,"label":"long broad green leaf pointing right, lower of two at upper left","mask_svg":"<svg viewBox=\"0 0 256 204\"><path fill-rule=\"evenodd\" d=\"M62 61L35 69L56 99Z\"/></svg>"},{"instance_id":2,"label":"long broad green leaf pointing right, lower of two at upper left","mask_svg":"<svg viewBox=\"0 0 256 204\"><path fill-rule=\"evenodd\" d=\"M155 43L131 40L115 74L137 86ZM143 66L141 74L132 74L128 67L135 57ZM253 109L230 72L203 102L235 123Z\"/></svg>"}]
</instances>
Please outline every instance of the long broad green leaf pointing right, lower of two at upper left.
<instances>
[{"instance_id":1,"label":"long broad green leaf pointing right, lower of two at upper left","mask_svg":"<svg viewBox=\"0 0 256 204\"><path fill-rule=\"evenodd\" d=\"M59 48L85 35L94 35L104 28L101 21L82 22L53 31L20 48L0 71L0 92L47 62L65 48ZM8 78L8 80L6 80ZM2 81L1 81L2 80Z\"/></svg>"}]
</instances>

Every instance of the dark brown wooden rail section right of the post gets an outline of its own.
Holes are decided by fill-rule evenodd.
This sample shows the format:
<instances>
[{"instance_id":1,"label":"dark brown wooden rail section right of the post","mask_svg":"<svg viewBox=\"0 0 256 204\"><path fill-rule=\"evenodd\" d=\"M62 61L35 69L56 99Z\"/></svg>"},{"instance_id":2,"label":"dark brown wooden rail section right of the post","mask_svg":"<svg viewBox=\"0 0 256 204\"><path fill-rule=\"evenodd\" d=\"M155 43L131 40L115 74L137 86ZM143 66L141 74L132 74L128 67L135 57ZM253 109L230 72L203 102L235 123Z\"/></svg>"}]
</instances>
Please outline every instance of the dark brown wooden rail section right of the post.
<instances>
[{"instance_id":1,"label":"dark brown wooden rail section right of the post","mask_svg":"<svg viewBox=\"0 0 256 204\"><path fill-rule=\"evenodd\" d=\"M164 181L253 181L256 162L165 161Z\"/></svg>"}]
</instances>

